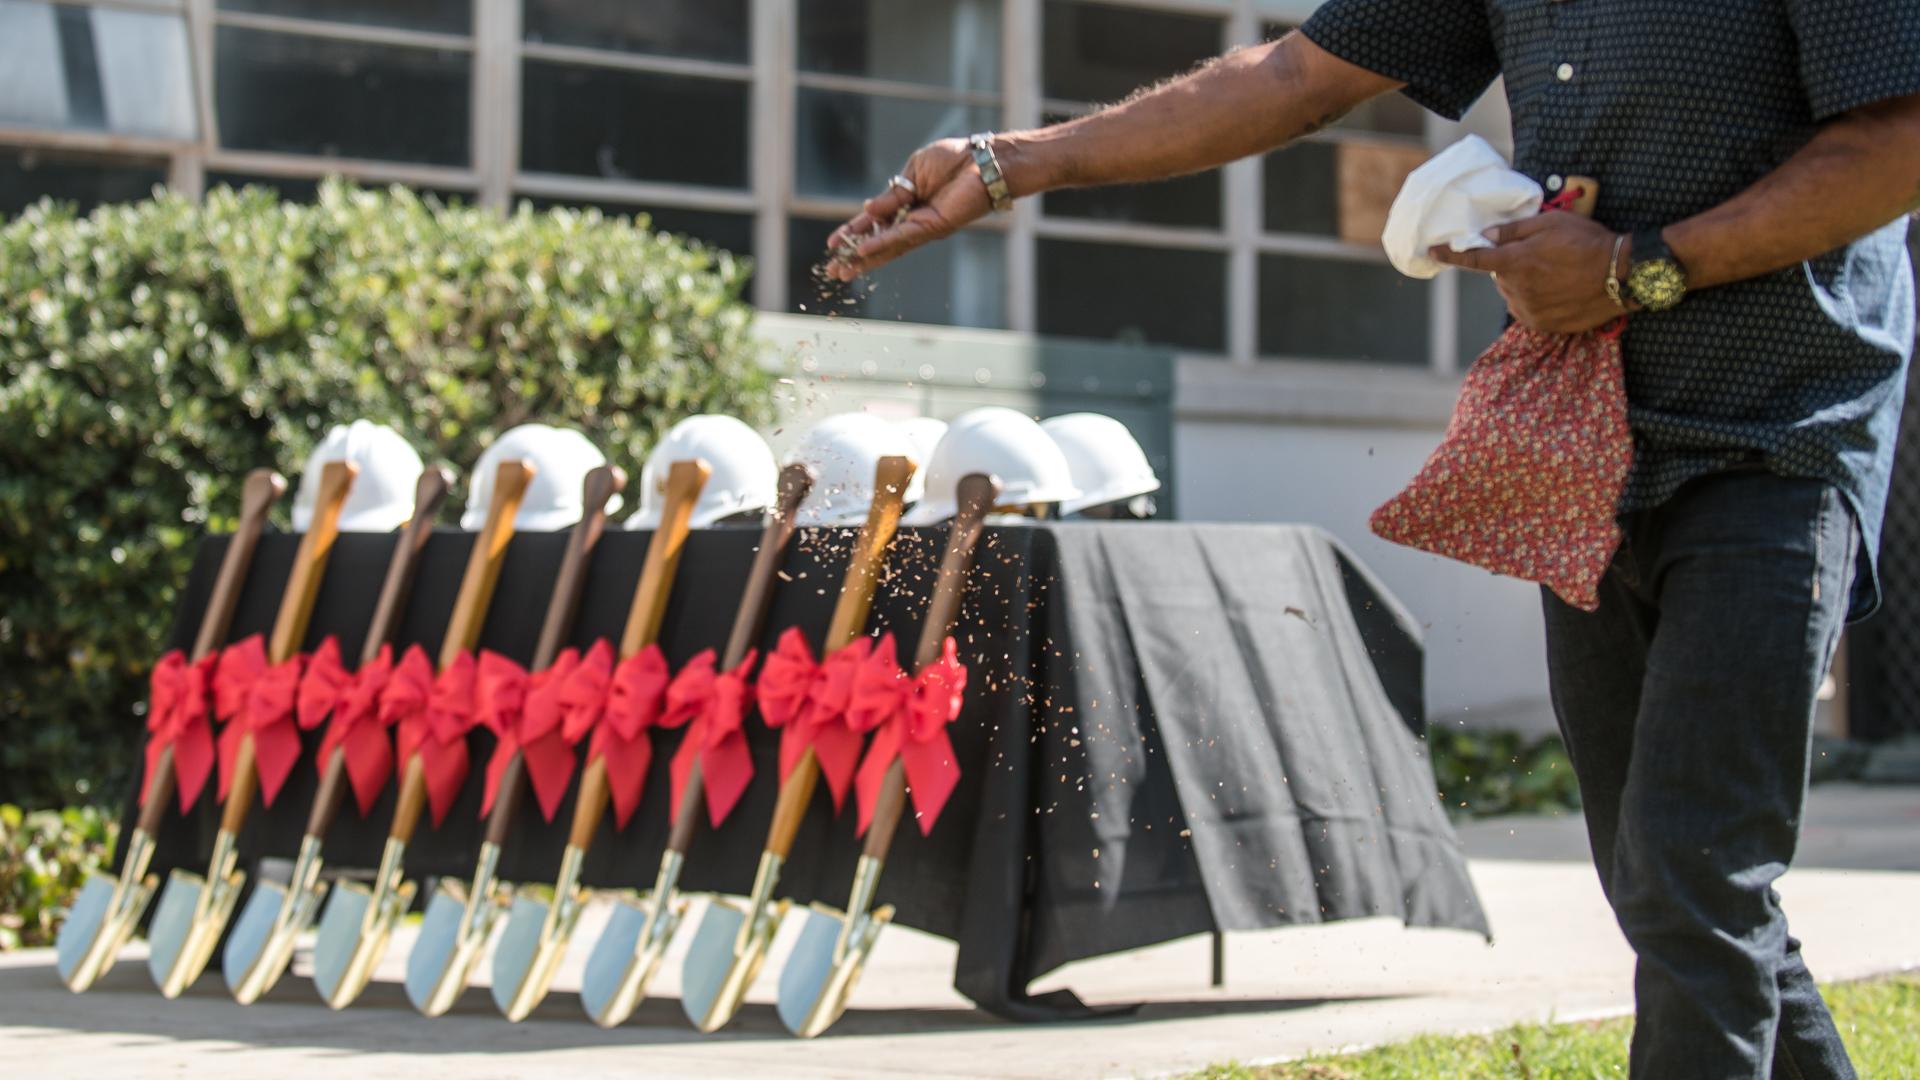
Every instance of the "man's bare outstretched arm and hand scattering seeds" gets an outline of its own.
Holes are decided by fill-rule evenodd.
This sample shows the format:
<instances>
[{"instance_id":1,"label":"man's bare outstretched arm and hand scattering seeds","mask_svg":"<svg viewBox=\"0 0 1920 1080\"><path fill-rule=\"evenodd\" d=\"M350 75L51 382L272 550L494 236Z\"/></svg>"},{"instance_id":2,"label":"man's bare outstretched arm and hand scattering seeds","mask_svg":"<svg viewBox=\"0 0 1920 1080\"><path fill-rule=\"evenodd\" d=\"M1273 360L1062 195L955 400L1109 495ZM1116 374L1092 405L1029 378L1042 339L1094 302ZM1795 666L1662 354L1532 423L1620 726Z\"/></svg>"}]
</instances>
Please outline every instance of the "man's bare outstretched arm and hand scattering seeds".
<instances>
[{"instance_id":1,"label":"man's bare outstretched arm and hand scattering seeds","mask_svg":"<svg viewBox=\"0 0 1920 1080\"><path fill-rule=\"evenodd\" d=\"M1016 198L1054 188L1160 181L1215 169L1311 135L1354 106L1400 88L1400 83L1356 67L1292 33L1277 42L1240 48L1190 75L1142 90L1096 113L996 135L995 158ZM828 240L831 250L858 242L829 273L851 281L922 244L950 236L991 209L987 188L964 138L943 138L908 158L918 206L900 188L874 196ZM874 225L879 223L879 233Z\"/></svg>"}]
</instances>

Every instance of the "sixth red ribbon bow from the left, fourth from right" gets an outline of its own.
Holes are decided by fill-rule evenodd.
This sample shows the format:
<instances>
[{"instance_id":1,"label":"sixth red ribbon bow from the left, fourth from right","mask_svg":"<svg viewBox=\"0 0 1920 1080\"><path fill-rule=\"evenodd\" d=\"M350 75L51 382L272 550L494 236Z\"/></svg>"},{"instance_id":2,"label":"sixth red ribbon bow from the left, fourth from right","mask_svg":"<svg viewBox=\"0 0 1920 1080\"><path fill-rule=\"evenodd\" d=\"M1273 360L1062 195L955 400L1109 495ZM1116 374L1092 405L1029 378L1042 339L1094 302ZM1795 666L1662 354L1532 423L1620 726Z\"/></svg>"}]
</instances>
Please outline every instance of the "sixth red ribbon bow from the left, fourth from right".
<instances>
[{"instance_id":1,"label":"sixth red ribbon bow from the left, fourth from right","mask_svg":"<svg viewBox=\"0 0 1920 1080\"><path fill-rule=\"evenodd\" d=\"M607 642L597 642L561 686L563 728L574 742L588 730L593 732L588 761L607 761L614 822L626 828L647 786L647 767L653 765L647 728L660 721L668 682L666 655L660 646L647 646L609 671L612 648L603 646Z\"/></svg>"}]
</instances>

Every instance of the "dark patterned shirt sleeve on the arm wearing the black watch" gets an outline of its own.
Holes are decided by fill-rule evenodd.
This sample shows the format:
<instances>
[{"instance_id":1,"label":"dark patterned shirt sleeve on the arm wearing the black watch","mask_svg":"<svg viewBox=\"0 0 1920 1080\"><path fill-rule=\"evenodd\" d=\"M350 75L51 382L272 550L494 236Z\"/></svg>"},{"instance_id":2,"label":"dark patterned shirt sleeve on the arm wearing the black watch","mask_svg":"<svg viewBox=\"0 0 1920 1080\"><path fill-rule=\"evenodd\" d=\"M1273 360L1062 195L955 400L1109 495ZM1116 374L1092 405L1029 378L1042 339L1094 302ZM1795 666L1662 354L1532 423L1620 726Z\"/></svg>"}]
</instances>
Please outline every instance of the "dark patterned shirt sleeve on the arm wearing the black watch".
<instances>
[{"instance_id":1,"label":"dark patterned shirt sleeve on the arm wearing the black watch","mask_svg":"<svg viewBox=\"0 0 1920 1080\"><path fill-rule=\"evenodd\" d=\"M1801 85L1816 121L1920 94L1920 4L1912 0L1788 0Z\"/></svg>"}]
</instances>

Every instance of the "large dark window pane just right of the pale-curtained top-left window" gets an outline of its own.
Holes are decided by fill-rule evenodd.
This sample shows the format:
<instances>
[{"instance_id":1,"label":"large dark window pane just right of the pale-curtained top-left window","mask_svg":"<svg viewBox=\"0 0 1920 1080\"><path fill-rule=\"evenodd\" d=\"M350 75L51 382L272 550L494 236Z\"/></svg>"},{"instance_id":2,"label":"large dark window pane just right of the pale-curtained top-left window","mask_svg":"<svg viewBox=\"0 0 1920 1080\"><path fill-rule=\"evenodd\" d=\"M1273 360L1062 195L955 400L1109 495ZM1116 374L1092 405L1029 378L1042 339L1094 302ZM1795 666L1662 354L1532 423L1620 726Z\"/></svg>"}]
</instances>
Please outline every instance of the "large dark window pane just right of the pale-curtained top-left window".
<instances>
[{"instance_id":1,"label":"large dark window pane just right of the pale-curtained top-left window","mask_svg":"<svg viewBox=\"0 0 1920 1080\"><path fill-rule=\"evenodd\" d=\"M221 144L467 165L472 58L219 27Z\"/></svg>"}]
</instances>

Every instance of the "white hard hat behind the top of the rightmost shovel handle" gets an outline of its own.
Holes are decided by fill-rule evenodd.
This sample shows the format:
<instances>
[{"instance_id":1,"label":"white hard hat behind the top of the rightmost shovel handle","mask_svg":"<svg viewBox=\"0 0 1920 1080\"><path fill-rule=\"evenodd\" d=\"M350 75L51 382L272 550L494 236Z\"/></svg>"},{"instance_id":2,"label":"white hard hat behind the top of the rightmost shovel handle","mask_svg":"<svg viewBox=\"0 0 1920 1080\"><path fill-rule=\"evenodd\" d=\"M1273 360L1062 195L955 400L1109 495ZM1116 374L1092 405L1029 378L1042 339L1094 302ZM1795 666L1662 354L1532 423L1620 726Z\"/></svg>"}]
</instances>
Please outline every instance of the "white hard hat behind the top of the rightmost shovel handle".
<instances>
[{"instance_id":1,"label":"white hard hat behind the top of the rightmost shovel handle","mask_svg":"<svg viewBox=\"0 0 1920 1080\"><path fill-rule=\"evenodd\" d=\"M1000 480L1000 505L1064 503L1079 494L1073 469L1033 417L989 405L954 417L925 465L927 494L902 519L933 525L954 515L954 486L970 473Z\"/></svg>"}]
</instances>

